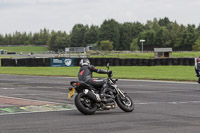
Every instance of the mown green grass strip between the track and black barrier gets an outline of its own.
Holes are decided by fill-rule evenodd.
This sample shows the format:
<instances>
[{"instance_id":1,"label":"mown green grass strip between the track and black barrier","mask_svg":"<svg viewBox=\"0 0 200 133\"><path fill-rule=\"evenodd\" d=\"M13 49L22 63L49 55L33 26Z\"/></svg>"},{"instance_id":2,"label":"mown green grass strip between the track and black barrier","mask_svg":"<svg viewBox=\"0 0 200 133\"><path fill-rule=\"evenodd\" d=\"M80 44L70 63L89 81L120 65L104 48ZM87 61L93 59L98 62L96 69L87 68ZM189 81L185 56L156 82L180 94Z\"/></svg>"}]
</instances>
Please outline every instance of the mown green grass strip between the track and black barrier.
<instances>
[{"instance_id":1,"label":"mown green grass strip between the track and black barrier","mask_svg":"<svg viewBox=\"0 0 200 133\"><path fill-rule=\"evenodd\" d=\"M105 67L98 67L106 69ZM0 67L0 74L77 77L79 67ZM113 78L196 81L193 66L111 66ZM105 74L94 74L105 78Z\"/></svg>"}]
</instances>

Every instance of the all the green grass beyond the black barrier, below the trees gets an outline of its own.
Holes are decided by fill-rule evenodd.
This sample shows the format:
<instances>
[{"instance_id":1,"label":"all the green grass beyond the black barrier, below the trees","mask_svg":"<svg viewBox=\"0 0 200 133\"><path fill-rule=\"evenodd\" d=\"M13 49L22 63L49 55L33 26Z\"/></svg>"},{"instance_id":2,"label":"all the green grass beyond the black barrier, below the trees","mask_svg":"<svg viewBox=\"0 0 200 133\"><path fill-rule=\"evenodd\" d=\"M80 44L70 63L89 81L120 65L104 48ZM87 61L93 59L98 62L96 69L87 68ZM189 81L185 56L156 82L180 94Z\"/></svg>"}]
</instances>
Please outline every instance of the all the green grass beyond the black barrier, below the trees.
<instances>
[{"instance_id":1,"label":"all the green grass beyond the black barrier, below the trees","mask_svg":"<svg viewBox=\"0 0 200 133\"><path fill-rule=\"evenodd\" d=\"M45 53L48 51L48 48L45 46L7 46L2 47L0 46L0 50L7 50L8 52L17 52L17 54L20 54L20 52L23 52L23 54L28 54L29 52L33 52L34 54L38 53ZM96 55L94 55L96 54ZM132 53L119 53L118 51L112 51L112 52L106 52L106 51L93 51L89 53L90 57L92 58L154 58L153 52L132 52ZM2 55L0 55L2 56ZM173 58L183 58L183 57L198 57L200 56L200 52L173 52L172 57Z\"/></svg>"}]
</instances>

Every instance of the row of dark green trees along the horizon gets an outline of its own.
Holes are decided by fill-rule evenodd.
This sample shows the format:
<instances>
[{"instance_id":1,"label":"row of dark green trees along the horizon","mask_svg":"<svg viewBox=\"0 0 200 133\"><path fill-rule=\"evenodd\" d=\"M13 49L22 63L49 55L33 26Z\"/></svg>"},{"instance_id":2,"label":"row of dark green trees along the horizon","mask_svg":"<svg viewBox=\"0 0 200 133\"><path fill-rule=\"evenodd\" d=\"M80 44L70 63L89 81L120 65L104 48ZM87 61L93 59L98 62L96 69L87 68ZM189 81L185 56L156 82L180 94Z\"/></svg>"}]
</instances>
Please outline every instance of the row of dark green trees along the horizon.
<instances>
[{"instance_id":1,"label":"row of dark green trees along the horizon","mask_svg":"<svg viewBox=\"0 0 200 133\"><path fill-rule=\"evenodd\" d=\"M167 17L154 18L145 24L119 23L108 19L100 26L75 24L70 33L44 28L37 33L16 31L0 34L0 45L47 45L53 51L90 44L102 50L141 50L140 40L145 40L144 50L152 51L155 47L172 47L177 51L200 50L200 25L185 26Z\"/></svg>"}]
</instances>

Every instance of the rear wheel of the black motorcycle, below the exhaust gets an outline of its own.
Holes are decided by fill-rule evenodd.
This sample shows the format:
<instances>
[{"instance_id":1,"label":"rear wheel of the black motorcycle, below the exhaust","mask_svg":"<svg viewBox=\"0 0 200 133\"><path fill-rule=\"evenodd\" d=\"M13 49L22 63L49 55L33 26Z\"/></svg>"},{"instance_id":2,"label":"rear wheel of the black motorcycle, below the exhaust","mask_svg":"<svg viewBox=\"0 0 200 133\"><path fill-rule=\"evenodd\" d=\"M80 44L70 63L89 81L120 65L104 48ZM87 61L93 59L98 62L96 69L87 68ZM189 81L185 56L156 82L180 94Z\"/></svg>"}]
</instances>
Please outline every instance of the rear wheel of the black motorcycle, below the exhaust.
<instances>
[{"instance_id":1,"label":"rear wheel of the black motorcycle, below the exhaust","mask_svg":"<svg viewBox=\"0 0 200 133\"><path fill-rule=\"evenodd\" d=\"M82 100L82 101L81 101ZM90 104L92 105L90 108L86 106L87 103L85 102L91 102ZM78 93L75 97L75 106L76 108L83 113L84 115L92 115L96 112L97 106L95 102L90 100L87 95L84 93Z\"/></svg>"}]
</instances>

